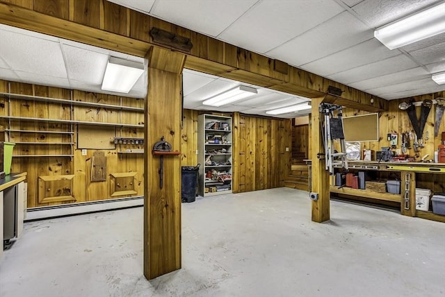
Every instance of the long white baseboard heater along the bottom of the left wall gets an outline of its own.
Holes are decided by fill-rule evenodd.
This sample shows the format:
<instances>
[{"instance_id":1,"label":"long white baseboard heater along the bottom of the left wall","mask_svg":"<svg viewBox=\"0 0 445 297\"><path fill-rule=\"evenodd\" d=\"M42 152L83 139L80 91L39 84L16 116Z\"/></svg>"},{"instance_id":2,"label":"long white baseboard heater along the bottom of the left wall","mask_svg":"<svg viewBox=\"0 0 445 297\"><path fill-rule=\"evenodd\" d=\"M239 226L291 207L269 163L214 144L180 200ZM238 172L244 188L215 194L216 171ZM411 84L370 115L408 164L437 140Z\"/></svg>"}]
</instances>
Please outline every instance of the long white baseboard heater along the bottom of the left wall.
<instances>
[{"instance_id":1,"label":"long white baseboard heater along the bottom of the left wall","mask_svg":"<svg viewBox=\"0 0 445 297\"><path fill-rule=\"evenodd\" d=\"M88 214L90 212L103 212L106 210L117 210L120 208L137 207L143 205L144 197L139 196L54 206L32 207L26 210L25 221L65 217L72 216L74 214Z\"/></svg>"}]
</instances>

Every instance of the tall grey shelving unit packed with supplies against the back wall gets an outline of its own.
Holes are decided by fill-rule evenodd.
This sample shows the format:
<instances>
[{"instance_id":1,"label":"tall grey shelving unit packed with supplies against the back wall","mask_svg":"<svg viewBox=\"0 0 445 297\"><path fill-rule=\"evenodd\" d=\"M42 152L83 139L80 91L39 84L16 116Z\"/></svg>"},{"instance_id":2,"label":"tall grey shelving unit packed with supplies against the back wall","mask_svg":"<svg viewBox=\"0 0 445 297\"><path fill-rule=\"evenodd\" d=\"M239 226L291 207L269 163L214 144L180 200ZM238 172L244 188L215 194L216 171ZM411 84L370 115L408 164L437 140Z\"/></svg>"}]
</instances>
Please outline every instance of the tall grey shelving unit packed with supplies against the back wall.
<instances>
[{"instance_id":1,"label":"tall grey shelving unit packed with supplies against the back wall","mask_svg":"<svg viewBox=\"0 0 445 297\"><path fill-rule=\"evenodd\" d=\"M198 117L198 162L201 196L232 193L232 117Z\"/></svg>"}]
</instances>

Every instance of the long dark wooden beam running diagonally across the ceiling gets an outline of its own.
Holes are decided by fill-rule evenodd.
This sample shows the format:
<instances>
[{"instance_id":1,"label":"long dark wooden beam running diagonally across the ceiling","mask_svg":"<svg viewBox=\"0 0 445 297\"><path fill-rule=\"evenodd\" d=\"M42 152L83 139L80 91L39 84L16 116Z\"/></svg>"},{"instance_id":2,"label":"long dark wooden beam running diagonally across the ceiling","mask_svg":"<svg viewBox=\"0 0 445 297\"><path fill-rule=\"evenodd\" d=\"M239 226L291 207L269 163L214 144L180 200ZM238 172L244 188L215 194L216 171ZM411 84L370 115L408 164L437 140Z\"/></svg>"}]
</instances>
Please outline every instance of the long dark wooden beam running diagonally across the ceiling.
<instances>
[{"instance_id":1,"label":"long dark wooden beam running diagonally across the ceiling","mask_svg":"<svg viewBox=\"0 0 445 297\"><path fill-rule=\"evenodd\" d=\"M324 96L327 87L334 85L343 90L344 100L336 103L346 107L375 112L388 106L387 101L371 94L283 62L277 69L271 58L105 0L0 0L0 23L138 57L144 57L150 46L179 51L152 40L149 31L161 28L190 39L193 48L186 53L188 69L308 98Z\"/></svg>"}]
</instances>

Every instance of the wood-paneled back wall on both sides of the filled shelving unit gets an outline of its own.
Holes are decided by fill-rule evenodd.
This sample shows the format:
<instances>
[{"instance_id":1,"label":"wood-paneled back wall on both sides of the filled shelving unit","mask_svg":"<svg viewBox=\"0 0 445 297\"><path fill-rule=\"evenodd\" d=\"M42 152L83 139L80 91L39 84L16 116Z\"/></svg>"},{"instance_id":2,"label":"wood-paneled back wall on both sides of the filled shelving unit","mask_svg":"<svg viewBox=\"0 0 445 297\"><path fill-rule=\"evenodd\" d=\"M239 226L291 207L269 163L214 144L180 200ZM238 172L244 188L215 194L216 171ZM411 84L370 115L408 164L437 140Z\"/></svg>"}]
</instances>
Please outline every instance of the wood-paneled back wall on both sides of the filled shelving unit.
<instances>
[{"instance_id":1,"label":"wood-paneled back wall on both sides of the filled shelving unit","mask_svg":"<svg viewBox=\"0 0 445 297\"><path fill-rule=\"evenodd\" d=\"M202 113L184 110L182 166L195 166L198 162L197 116ZM238 112L223 115L233 117L234 192L282 187L290 170L291 120L252 117Z\"/></svg>"}]
</instances>

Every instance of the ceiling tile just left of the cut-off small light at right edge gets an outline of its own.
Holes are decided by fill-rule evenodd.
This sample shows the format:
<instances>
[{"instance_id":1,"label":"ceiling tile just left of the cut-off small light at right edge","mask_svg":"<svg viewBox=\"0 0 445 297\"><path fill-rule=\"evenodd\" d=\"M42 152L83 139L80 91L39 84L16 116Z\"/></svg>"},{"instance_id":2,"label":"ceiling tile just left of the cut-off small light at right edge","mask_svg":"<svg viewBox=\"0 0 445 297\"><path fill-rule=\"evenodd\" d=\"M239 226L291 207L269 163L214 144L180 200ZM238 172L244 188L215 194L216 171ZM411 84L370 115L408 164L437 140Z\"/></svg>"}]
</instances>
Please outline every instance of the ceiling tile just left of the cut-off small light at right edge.
<instances>
[{"instance_id":1,"label":"ceiling tile just left of the cut-off small light at right edge","mask_svg":"<svg viewBox=\"0 0 445 297\"><path fill-rule=\"evenodd\" d=\"M377 87L385 87L387 85L394 85L398 83L403 83L410 80L419 80L430 76L428 71L423 69L423 67L416 67L412 69L403 70L400 72L395 72L393 74L387 74L384 76L377 76L375 78L369 78L366 80L360 80L356 83L348 84L350 87L354 87L357 90L371 90Z\"/></svg>"}]
</instances>

